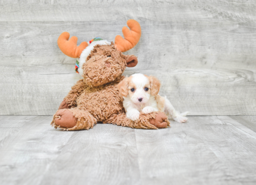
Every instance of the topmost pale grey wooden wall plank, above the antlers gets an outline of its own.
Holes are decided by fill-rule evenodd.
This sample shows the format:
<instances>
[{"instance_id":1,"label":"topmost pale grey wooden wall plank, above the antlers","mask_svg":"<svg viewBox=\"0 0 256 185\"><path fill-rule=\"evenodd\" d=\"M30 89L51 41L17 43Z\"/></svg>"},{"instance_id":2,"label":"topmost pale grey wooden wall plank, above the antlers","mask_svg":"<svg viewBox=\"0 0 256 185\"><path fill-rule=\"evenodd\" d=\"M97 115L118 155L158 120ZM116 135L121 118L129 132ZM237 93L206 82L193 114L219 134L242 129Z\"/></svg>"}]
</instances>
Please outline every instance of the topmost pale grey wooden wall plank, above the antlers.
<instances>
[{"instance_id":1,"label":"topmost pale grey wooden wall plank, above the antlers","mask_svg":"<svg viewBox=\"0 0 256 185\"><path fill-rule=\"evenodd\" d=\"M205 21L256 22L254 0L1 0L0 21ZM97 8L95 8L97 7Z\"/></svg>"}]
</instances>

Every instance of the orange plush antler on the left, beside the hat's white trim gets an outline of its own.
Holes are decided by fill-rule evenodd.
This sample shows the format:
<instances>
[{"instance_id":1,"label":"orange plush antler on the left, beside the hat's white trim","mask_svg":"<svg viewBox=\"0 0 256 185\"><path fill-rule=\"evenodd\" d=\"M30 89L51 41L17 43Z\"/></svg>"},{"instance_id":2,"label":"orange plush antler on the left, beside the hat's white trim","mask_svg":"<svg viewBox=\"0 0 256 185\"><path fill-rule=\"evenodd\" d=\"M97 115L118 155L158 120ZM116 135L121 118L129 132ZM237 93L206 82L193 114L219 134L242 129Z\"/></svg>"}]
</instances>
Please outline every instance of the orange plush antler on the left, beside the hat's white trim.
<instances>
[{"instance_id":1,"label":"orange plush antler on the left, beside the hat's white trim","mask_svg":"<svg viewBox=\"0 0 256 185\"><path fill-rule=\"evenodd\" d=\"M73 36L69 40L69 33L63 32L58 38L58 46L61 51L68 57L78 58L81 55L81 52L88 46L87 42L82 42L77 46L77 37Z\"/></svg>"}]
</instances>

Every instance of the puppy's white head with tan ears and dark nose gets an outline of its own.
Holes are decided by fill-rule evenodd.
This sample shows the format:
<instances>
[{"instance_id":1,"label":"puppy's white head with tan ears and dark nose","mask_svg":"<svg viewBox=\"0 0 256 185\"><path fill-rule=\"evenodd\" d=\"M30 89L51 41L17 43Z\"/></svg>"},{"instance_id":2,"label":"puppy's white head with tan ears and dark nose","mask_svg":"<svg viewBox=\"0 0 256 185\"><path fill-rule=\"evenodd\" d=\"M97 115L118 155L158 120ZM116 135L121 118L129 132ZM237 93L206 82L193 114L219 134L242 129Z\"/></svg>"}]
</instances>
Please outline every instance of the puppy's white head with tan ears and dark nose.
<instances>
[{"instance_id":1,"label":"puppy's white head with tan ears and dark nose","mask_svg":"<svg viewBox=\"0 0 256 185\"><path fill-rule=\"evenodd\" d=\"M156 77L138 73L124 78L118 84L118 89L121 96L129 96L133 103L144 104L148 102L150 96L158 94L160 85Z\"/></svg>"}]
</instances>

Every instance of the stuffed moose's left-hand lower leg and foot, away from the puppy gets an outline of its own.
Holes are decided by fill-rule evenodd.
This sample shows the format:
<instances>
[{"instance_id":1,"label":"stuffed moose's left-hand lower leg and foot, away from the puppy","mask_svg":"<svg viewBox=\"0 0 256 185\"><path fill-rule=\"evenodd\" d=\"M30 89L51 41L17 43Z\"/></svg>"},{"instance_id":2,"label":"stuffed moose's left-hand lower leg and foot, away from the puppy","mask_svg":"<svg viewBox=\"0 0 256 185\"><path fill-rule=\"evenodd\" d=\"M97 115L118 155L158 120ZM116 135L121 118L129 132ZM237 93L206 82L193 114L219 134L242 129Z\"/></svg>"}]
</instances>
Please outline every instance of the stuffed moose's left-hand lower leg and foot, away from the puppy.
<instances>
[{"instance_id":1,"label":"stuffed moose's left-hand lower leg and foot, away from the puppy","mask_svg":"<svg viewBox=\"0 0 256 185\"><path fill-rule=\"evenodd\" d=\"M78 108L57 110L51 125L64 130L83 130L93 128L97 120L88 111Z\"/></svg>"}]
</instances>

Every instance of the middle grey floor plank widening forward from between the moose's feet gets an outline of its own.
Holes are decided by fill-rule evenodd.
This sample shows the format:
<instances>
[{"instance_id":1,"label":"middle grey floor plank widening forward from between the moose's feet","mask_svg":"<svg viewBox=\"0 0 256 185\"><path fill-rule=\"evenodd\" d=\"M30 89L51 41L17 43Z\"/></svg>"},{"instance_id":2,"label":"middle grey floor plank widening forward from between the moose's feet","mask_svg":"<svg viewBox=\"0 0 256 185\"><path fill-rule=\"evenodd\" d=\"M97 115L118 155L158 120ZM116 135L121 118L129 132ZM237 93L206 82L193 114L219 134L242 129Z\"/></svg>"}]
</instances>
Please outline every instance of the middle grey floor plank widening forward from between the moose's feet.
<instances>
[{"instance_id":1,"label":"middle grey floor plank widening forward from between the moose's feet","mask_svg":"<svg viewBox=\"0 0 256 185\"><path fill-rule=\"evenodd\" d=\"M134 132L109 124L75 132L41 184L140 185Z\"/></svg>"}]
</instances>

